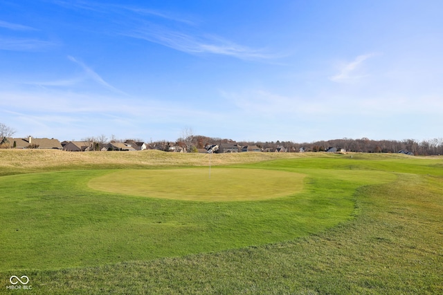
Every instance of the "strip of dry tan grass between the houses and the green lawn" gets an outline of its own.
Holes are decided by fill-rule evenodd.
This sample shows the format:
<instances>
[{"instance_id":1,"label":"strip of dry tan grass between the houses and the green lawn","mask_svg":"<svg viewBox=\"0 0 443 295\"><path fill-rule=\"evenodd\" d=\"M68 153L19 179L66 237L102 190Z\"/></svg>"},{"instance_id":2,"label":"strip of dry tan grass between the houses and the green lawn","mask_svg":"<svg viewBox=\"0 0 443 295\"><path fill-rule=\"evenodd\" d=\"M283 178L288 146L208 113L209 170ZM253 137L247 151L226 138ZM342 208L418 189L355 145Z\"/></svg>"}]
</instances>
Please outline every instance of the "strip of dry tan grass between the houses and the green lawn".
<instances>
[{"instance_id":1,"label":"strip of dry tan grass between the houses and the green lawn","mask_svg":"<svg viewBox=\"0 0 443 295\"><path fill-rule=\"evenodd\" d=\"M307 155L300 153L165 153L163 151L97 151L68 152L39 149L0 149L0 170L3 174L26 172L40 169L63 169L72 166L207 166L244 164L265 160L300 158Z\"/></svg>"}]
</instances>

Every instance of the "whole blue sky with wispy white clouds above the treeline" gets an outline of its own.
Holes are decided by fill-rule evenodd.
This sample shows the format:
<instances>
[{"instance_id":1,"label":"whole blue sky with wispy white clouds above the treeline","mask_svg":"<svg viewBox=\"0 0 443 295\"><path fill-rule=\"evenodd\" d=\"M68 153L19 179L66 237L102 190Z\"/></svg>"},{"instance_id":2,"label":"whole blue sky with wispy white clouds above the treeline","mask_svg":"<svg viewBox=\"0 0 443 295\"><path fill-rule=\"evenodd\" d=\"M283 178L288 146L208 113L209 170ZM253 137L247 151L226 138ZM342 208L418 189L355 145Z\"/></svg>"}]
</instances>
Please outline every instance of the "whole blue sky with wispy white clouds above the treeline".
<instances>
[{"instance_id":1,"label":"whole blue sky with wispy white clouds above the treeline","mask_svg":"<svg viewBox=\"0 0 443 295\"><path fill-rule=\"evenodd\" d=\"M17 137L443 137L443 1L0 3Z\"/></svg>"}]
</instances>

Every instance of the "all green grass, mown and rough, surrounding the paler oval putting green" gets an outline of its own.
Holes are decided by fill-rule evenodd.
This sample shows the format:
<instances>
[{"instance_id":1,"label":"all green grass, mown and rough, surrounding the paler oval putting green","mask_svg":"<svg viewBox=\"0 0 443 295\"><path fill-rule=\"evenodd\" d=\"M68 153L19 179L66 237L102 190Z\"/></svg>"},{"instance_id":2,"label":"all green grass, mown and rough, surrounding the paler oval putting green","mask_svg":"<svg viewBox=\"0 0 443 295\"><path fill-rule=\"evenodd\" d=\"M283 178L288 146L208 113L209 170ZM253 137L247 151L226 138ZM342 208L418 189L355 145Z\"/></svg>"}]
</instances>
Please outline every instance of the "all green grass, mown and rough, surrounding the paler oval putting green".
<instances>
[{"instance_id":1,"label":"all green grass, mown and rough, surrounding the paler oval putting green","mask_svg":"<svg viewBox=\"0 0 443 295\"><path fill-rule=\"evenodd\" d=\"M442 164L359 154L236 164L305 175L300 192L255 202L87 187L109 170L3 176L0 292L26 274L37 294L439 294Z\"/></svg>"}]
</instances>

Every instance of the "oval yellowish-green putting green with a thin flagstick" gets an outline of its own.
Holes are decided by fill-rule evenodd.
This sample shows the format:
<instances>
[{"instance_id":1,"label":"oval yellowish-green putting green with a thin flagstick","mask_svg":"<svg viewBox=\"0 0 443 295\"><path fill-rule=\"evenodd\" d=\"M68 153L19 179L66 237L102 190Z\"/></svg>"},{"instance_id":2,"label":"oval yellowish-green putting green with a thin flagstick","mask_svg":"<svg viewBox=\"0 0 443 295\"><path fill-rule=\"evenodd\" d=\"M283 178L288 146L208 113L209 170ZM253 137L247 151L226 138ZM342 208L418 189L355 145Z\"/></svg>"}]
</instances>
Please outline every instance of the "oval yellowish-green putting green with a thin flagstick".
<instances>
[{"instance_id":1,"label":"oval yellowish-green putting green with a thin flagstick","mask_svg":"<svg viewBox=\"0 0 443 295\"><path fill-rule=\"evenodd\" d=\"M99 191L174 200L265 200L298 193L305 175L264 169L116 171L89 181Z\"/></svg>"}]
</instances>

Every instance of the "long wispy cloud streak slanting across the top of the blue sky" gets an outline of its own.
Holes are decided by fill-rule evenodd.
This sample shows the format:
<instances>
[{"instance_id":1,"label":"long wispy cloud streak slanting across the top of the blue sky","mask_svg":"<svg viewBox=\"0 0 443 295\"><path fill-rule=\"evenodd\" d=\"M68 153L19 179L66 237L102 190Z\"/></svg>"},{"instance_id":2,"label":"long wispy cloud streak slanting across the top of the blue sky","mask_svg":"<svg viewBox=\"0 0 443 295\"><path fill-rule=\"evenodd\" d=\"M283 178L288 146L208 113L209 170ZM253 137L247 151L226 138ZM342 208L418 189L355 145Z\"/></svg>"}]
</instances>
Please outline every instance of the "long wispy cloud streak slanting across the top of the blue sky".
<instances>
[{"instance_id":1,"label":"long wispy cloud streak slanting across the top of the blue sky","mask_svg":"<svg viewBox=\"0 0 443 295\"><path fill-rule=\"evenodd\" d=\"M98 5L85 2L57 1L61 6L112 14L110 21L118 24L114 33L136 39L161 44L189 54L213 54L235 57L238 59L275 59L278 55L265 50L237 44L224 37L203 32L190 18L174 15L172 12L151 10L129 5ZM163 19L163 25L154 24L154 18Z\"/></svg>"}]
</instances>

